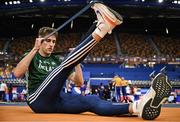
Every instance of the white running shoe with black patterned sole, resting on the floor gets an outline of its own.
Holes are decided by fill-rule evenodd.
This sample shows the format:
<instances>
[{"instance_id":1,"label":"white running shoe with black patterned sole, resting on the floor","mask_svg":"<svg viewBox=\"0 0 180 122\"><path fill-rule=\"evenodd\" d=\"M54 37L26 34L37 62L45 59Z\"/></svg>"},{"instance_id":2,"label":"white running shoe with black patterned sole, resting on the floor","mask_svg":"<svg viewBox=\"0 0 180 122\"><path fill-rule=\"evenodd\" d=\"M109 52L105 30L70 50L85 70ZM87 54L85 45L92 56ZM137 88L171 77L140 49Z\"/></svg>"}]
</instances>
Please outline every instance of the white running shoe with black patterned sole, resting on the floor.
<instances>
[{"instance_id":1,"label":"white running shoe with black patterned sole, resting on the floor","mask_svg":"<svg viewBox=\"0 0 180 122\"><path fill-rule=\"evenodd\" d=\"M171 84L166 75L159 73L152 81L150 90L141 100L136 102L139 116L146 120L153 120L160 115L162 103L171 93Z\"/></svg>"}]
</instances>

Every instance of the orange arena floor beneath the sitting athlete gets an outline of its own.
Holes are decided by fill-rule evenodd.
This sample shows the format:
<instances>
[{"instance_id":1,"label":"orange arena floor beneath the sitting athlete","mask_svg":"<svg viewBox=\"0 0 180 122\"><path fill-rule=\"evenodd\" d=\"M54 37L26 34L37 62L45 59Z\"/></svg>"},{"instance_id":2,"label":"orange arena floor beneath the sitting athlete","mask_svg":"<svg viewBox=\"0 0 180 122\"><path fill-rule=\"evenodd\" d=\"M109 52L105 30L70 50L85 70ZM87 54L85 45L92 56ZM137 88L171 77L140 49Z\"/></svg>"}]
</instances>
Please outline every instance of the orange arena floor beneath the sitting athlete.
<instances>
[{"instance_id":1,"label":"orange arena floor beneath the sitting athlete","mask_svg":"<svg viewBox=\"0 0 180 122\"><path fill-rule=\"evenodd\" d=\"M26 105L0 105L0 122L141 122L135 116L104 117L90 112L82 114L35 114ZM163 107L155 121L180 122L180 107Z\"/></svg>"}]
</instances>

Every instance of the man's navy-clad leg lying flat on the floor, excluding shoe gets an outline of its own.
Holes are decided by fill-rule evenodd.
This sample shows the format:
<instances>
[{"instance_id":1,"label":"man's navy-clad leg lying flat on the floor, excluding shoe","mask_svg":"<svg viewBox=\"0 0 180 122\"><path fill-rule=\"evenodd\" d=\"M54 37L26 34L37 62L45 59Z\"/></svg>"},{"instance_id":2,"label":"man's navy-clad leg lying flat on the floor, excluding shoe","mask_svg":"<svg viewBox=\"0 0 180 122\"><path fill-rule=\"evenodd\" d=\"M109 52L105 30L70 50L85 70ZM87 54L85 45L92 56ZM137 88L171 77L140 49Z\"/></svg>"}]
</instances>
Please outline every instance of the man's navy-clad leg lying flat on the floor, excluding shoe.
<instances>
[{"instance_id":1,"label":"man's navy-clad leg lying flat on the floor, excluding shoe","mask_svg":"<svg viewBox=\"0 0 180 122\"><path fill-rule=\"evenodd\" d=\"M129 113L129 104L112 103L94 95L81 96L61 93L60 99L56 104L59 113L79 114L82 112L93 112L102 116Z\"/></svg>"}]
</instances>

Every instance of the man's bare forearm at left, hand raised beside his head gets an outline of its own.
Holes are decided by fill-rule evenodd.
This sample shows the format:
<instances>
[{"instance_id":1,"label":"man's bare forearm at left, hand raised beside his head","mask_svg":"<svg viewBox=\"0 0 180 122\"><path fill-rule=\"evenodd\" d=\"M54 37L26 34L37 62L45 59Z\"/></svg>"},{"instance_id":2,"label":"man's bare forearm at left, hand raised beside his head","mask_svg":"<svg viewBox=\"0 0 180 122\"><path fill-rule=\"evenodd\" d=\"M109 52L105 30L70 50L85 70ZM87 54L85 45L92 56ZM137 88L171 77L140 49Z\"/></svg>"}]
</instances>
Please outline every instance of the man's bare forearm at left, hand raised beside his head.
<instances>
[{"instance_id":1,"label":"man's bare forearm at left, hand raised beside his head","mask_svg":"<svg viewBox=\"0 0 180 122\"><path fill-rule=\"evenodd\" d=\"M15 77L19 78L22 77L28 70L28 67L35 56L36 52L39 50L41 45L42 38L36 38L36 42L34 48L17 64L16 68L14 69Z\"/></svg>"}]
</instances>

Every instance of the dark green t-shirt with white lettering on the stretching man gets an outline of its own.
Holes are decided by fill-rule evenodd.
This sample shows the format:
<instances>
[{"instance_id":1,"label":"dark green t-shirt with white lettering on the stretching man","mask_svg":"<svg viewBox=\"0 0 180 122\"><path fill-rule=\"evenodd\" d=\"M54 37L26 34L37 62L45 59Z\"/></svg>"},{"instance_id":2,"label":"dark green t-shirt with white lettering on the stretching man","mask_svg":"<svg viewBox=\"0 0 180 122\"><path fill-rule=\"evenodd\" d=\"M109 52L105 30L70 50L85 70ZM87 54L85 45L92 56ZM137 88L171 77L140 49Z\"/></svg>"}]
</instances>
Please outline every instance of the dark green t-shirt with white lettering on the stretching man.
<instances>
[{"instance_id":1,"label":"dark green t-shirt with white lettering on the stretching man","mask_svg":"<svg viewBox=\"0 0 180 122\"><path fill-rule=\"evenodd\" d=\"M43 57L36 53L32 59L28 71L28 90L33 93L47 77L47 74L60 65L58 56Z\"/></svg>"}]
</instances>

